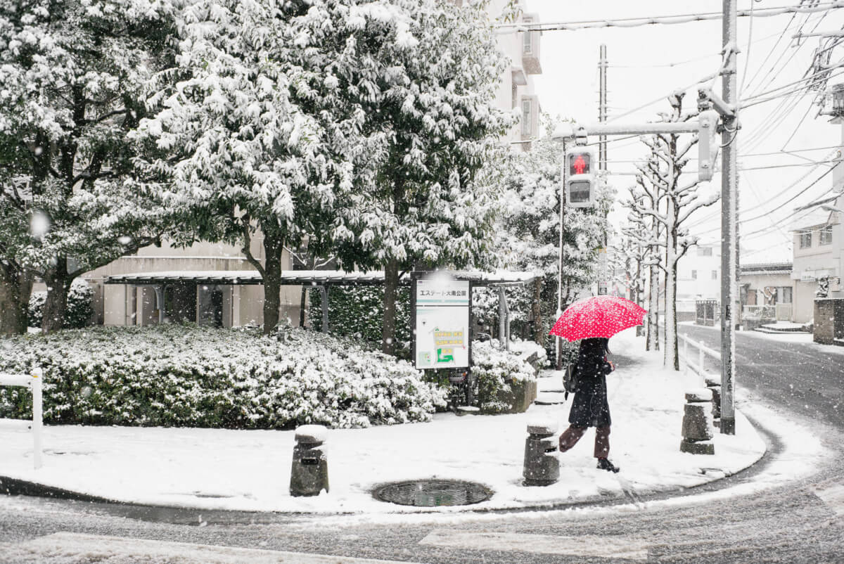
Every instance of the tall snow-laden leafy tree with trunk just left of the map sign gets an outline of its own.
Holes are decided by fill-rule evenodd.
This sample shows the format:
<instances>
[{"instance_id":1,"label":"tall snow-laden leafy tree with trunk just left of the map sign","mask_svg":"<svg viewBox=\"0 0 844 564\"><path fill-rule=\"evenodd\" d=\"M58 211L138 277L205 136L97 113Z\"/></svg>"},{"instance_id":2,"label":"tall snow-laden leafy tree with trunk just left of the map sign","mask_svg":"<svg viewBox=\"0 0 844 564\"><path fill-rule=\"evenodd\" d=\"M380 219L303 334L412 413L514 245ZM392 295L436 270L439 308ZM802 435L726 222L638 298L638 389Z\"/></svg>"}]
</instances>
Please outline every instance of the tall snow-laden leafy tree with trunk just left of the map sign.
<instances>
[{"instance_id":1,"label":"tall snow-laden leafy tree with trunk just left of the map sign","mask_svg":"<svg viewBox=\"0 0 844 564\"><path fill-rule=\"evenodd\" d=\"M344 264L386 274L382 349L392 352L398 280L415 266L489 263L497 180L479 174L512 123L495 108L507 62L495 45L486 3L393 0L408 19L407 41L379 53L384 72L351 94L366 128L386 144L376 189L365 193ZM364 4L368 5L368 4Z\"/></svg>"}]
</instances>

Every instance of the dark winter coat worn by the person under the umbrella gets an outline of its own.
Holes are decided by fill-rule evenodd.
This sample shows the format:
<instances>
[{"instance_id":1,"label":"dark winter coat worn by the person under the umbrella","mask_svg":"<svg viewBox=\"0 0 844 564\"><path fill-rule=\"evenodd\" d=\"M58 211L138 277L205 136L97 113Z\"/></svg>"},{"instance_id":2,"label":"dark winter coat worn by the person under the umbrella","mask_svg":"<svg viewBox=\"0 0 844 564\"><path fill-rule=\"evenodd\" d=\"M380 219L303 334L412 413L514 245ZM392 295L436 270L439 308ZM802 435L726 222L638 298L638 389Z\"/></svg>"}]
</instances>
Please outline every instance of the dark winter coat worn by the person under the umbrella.
<instances>
[{"instance_id":1,"label":"dark winter coat worn by the person under the umbrella","mask_svg":"<svg viewBox=\"0 0 844 564\"><path fill-rule=\"evenodd\" d=\"M613 371L613 366L607 361L605 344L606 339L585 339L577 355L578 383L569 413L572 426L606 427L612 423L607 401L607 374Z\"/></svg>"}]
</instances>

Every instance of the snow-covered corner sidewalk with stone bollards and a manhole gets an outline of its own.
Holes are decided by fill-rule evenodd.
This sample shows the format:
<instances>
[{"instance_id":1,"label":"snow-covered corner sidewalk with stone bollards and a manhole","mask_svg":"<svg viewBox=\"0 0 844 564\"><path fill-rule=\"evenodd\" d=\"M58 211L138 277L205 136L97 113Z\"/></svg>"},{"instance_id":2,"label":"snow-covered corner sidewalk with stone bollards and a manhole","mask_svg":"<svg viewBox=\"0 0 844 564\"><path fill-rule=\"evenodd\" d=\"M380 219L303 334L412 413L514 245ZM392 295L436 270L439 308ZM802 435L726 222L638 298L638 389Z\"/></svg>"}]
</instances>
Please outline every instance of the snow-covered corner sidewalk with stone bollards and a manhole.
<instances>
[{"instance_id":1,"label":"snow-covered corner sidewalk with stone bollards and a manhole","mask_svg":"<svg viewBox=\"0 0 844 564\"><path fill-rule=\"evenodd\" d=\"M684 390L700 388L694 375L665 371L661 353L641 350L632 330L610 348L633 361L608 377L613 427L610 458L619 474L595 468L594 431L560 455L560 480L522 485L528 423L567 425L565 404L533 405L518 415L437 414L430 423L332 430L327 433L331 491L289 495L294 431L47 426L45 462L32 469L30 434L0 431L0 476L30 480L123 502L178 507L278 512L416 512L379 502L375 485L443 478L487 485L495 495L478 505L547 506L645 494L699 485L754 464L765 444L739 412L734 437L715 433L714 456L679 452ZM540 395L561 388L561 373L546 371ZM559 432L558 431L558 432Z\"/></svg>"}]
</instances>

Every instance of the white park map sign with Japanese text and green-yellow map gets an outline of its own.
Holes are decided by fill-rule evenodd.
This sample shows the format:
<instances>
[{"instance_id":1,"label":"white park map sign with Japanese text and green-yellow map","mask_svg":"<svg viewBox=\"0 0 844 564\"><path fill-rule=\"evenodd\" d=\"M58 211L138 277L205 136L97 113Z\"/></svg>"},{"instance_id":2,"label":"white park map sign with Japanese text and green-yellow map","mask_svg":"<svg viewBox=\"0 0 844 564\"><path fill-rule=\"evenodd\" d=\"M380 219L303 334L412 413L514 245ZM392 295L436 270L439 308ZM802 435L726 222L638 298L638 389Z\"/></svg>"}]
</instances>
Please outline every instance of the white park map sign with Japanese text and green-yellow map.
<instances>
[{"instance_id":1,"label":"white park map sign with Japanese text and green-yellow map","mask_svg":"<svg viewBox=\"0 0 844 564\"><path fill-rule=\"evenodd\" d=\"M416 368L465 368L469 366L468 280L446 276L414 280Z\"/></svg>"}]
</instances>

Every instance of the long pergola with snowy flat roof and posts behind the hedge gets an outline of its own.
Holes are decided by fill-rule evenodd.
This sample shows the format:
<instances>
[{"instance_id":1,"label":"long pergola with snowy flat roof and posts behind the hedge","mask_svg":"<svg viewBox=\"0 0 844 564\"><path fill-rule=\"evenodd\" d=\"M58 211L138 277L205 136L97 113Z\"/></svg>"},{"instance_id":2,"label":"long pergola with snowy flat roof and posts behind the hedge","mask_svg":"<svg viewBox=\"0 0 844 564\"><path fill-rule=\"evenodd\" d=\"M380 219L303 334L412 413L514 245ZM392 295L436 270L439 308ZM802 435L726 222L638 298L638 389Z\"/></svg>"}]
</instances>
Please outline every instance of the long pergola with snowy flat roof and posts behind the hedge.
<instances>
[{"instance_id":1,"label":"long pergola with snowy flat roof and posts behind the hedge","mask_svg":"<svg viewBox=\"0 0 844 564\"><path fill-rule=\"evenodd\" d=\"M473 270L448 271L453 278L469 280L474 287L495 287L498 289L498 338L507 346L510 338L510 308L507 306L505 290L530 284L537 276L531 272L497 271L494 273ZM262 285L263 279L257 270L180 270L169 272L143 272L113 274L106 278L106 284L152 286L159 304L164 303L164 289L170 284L197 285ZM342 272L339 270L283 270L282 285L310 285L320 289L322 302L322 331L328 330L328 287L335 286L378 286L384 285L383 271ZM410 285L410 274L399 279L399 285ZM164 321L164 307L159 308L159 323Z\"/></svg>"}]
</instances>

